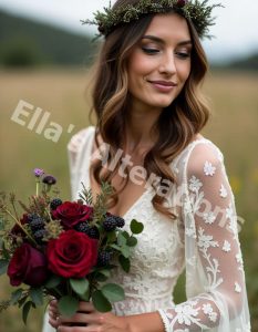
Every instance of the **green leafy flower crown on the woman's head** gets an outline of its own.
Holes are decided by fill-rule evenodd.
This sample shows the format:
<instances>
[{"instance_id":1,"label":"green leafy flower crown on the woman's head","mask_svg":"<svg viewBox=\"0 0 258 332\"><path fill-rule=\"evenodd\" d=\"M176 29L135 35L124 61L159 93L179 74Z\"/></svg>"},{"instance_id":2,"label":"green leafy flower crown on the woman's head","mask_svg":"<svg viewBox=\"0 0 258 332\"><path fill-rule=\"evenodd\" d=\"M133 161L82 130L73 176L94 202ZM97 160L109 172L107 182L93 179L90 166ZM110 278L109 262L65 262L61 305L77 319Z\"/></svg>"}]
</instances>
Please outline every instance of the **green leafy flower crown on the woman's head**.
<instances>
[{"instance_id":1,"label":"green leafy flower crown on the woman's head","mask_svg":"<svg viewBox=\"0 0 258 332\"><path fill-rule=\"evenodd\" d=\"M105 38L117 27L136 21L140 18L153 13L166 13L175 10L180 15L192 21L199 38L210 38L208 30L214 25L211 11L218 4L207 4L208 0L140 0L137 3L130 3L117 9L104 8L104 12L96 11L94 20L82 21L83 24L94 24L99 27L97 38Z\"/></svg>"}]
</instances>

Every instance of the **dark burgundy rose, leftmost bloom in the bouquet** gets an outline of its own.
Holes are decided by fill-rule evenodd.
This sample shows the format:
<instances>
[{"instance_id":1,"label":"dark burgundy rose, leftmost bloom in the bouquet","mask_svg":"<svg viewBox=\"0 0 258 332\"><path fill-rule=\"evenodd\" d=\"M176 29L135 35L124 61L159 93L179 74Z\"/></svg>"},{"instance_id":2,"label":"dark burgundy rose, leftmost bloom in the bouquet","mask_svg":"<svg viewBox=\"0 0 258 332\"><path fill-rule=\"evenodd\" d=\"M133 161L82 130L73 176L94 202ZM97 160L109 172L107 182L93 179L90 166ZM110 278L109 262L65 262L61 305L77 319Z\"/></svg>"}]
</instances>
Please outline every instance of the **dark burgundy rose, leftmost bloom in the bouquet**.
<instances>
[{"instance_id":1,"label":"dark burgundy rose, leftmost bloom in the bouquet","mask_svg":"<svg viewBox=\"0 0 258 332\"><path fill-rule=\"evenodd\" d=\"M7 274L11 286L22 282L32 287L41 286L48 278L47 258L29 243L22 243L14 251Z\"/></svg>"}]
</instances>

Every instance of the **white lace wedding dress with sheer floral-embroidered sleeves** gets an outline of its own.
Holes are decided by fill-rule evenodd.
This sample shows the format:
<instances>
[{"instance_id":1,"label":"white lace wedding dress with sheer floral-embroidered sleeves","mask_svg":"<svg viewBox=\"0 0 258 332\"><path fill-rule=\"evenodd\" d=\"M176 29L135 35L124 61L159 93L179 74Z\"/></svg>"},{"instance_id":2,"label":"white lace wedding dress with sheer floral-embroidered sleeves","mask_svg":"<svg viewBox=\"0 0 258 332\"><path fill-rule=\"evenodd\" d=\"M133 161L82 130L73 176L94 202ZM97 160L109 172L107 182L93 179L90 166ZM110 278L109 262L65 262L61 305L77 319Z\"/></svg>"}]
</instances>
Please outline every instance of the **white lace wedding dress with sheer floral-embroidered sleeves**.
<instances>
[{"instance_id":1,"label":"white lace wedding dress with sheer floral-embroidered sleeves","mask_svg":"<svg viewBox=\"0 0 258 332\"><path fill-rule=\"evenodd\" d=\"M90 186L89 166L95 128L81 131L69 144L72 194L81 181ZM126 298L114 304L117 315L158 311L164 331L250 331L242 257L234 196L223 154L210 141L190 143L172 163L177 185L167 205L177 207L169 220L151 203L148 187L122 216L144 224L130 273L116 271L112 281ZM186 269L187 301L175 304L173 290ZM52 331L45 324L44 332Z\"/></svg>"}]
</instances>

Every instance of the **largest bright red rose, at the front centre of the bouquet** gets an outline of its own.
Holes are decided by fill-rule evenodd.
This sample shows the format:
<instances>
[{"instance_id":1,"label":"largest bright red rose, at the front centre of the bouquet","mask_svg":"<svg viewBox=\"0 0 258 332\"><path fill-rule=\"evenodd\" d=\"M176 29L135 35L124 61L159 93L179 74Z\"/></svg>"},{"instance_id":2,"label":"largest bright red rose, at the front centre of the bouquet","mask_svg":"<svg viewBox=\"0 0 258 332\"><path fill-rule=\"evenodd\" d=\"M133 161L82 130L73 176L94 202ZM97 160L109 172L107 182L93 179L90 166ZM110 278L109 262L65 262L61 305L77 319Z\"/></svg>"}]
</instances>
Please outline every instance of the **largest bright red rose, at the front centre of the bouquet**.
<instances>
[{"instance_id":1,"label":"largest bright red rose, at the front centre of the bouquet","mask_svg":"<svg viewBox=\"0 0 258 332\"><path fill-rule=\"evenodd\" d=\"M70 229L47 247L49 269L64 278L83 278L96 264L97 241Z\"/></svg>"}]
</instances>

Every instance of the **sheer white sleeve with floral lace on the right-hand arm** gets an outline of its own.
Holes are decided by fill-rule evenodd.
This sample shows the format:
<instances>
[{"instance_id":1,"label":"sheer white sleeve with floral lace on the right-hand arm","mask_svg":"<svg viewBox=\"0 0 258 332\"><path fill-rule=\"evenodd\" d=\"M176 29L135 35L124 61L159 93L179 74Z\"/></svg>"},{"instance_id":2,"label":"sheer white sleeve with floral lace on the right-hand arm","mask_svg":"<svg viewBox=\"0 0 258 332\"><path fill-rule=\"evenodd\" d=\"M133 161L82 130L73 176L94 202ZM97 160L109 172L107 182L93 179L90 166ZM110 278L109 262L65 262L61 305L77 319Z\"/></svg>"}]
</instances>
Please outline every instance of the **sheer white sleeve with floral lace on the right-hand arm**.
<instances>
[{"instance_id":1,"label":"sheer white sleeve with floral lace on the right-hand arm","mask_svg":"<svg viewBox=\"0 0 258 332\"><path fill-rule=\"evenodd\" d=\"M237 215L218 148L196 144L184 178L188 300L159 310L165 331L250 331Z\"/></svg>"}]
</instances>

